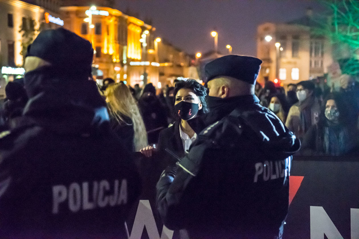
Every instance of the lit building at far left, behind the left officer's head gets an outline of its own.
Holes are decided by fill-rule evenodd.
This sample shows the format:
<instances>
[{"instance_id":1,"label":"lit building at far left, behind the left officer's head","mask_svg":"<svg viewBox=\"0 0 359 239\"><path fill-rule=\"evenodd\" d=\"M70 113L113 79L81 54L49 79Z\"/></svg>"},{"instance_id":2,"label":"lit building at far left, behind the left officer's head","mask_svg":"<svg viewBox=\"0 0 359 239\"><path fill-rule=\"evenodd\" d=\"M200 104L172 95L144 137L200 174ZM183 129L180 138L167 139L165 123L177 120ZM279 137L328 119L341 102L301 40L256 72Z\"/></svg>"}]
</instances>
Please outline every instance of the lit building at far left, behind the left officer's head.
<instances>
[{"instance_id":1,"label":"lit building at far left, behind the left officer's head","mask_svg":"<svg viewBox=\"0 0 359 239\"><path fill-rule=\"evenodd\" d=\"M0 98L8 81L23 77L23 56L39 31L61 26L59 4L59 0L0 0ZM23 36L25 32L29 37Z\"/></svg>"}]
</instances>

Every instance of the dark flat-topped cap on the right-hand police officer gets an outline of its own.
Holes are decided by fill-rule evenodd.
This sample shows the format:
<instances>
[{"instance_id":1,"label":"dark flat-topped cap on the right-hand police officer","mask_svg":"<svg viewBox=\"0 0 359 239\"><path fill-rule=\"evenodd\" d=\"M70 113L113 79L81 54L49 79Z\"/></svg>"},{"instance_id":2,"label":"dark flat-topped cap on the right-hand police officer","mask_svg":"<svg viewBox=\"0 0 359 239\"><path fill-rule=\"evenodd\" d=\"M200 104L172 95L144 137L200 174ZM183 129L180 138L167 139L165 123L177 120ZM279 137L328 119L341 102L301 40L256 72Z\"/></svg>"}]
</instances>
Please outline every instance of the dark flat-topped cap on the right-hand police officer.
<instances>
[{"instance_id":1,"label":"dark flat-topped cap on the right-hand police officer","mask_svg":"<svg viewBox=\"0 0 359 239\"><path fill-rule=\"evenodd\" d=\"M207 82L218 76L230 76L254 85L262 62L256 57L240 55L217 58L205 66Z\"/></svg>"}]
</instances>

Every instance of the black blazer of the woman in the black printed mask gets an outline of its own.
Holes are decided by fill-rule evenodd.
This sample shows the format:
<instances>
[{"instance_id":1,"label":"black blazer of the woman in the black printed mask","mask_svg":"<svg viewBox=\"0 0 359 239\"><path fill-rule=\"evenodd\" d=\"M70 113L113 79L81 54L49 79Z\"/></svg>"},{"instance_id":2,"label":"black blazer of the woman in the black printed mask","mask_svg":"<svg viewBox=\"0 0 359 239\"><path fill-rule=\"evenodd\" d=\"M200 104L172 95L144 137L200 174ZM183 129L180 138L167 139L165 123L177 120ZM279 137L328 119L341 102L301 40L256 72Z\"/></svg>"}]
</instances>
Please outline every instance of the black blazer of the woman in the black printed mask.
<instances>
[{"instance_id":1,"label":"black blazer of the woman in the black printed mask","mask_svg":"<svg viewBox=\"0 0 359 239\"><path fill-rule=\"evenodd\" d=\"M177 159L166 152L165 149L171 150L180 158L185 156L180 134L180 123L181 121L176 121L171 127L163 129L159 134L157 152L160 155L161 164L165 167L174 166L177 162Z\"/></svg>"}]
</instances>

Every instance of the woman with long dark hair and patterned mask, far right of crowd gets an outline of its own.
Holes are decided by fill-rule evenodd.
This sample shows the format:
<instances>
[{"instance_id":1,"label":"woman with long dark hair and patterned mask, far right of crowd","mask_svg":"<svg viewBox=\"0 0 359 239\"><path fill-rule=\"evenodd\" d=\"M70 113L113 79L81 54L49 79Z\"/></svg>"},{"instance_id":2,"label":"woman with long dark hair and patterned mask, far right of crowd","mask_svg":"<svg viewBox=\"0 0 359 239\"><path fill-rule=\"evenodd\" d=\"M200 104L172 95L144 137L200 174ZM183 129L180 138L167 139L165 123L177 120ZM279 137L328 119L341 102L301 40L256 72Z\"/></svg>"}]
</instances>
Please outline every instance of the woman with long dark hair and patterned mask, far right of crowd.
<instances>
[{"instance_id":1,"label":"woman with long dark hair and patterned mask, far right of crowd","mask_svg":"<svg viewBox=\"0 0 359 239\"><path fill-rule=\"evenodd\" d=\"M352 109L337 94L325 100L320 121L304 136L300 153L304 155L343 156L359 153L359 130L349 116Z\"/></svg>"}]
</instances>

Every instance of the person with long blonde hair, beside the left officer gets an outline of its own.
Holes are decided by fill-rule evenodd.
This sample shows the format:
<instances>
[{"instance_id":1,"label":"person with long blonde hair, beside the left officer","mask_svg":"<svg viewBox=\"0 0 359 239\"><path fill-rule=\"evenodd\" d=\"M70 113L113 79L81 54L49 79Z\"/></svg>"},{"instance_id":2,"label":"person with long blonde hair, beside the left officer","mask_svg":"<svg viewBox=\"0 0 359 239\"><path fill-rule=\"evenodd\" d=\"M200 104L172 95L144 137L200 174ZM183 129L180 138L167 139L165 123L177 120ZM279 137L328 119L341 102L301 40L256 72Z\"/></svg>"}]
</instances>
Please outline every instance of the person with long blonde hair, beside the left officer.
<instances>
[{"instance_id":1,"label":"person with long blonde hair, beside the left officer","mask_svg":"<svg viewBox=\"0 0 359 239\"><path fill-rule=\"evenodd\" d=\"M147 145L147 134L140 110L128 87L123 83L111 84L106 90L111 128L131 151Z\"/></svg>"}]
</instances>

